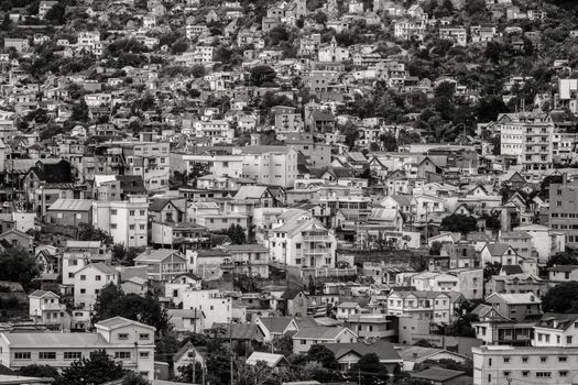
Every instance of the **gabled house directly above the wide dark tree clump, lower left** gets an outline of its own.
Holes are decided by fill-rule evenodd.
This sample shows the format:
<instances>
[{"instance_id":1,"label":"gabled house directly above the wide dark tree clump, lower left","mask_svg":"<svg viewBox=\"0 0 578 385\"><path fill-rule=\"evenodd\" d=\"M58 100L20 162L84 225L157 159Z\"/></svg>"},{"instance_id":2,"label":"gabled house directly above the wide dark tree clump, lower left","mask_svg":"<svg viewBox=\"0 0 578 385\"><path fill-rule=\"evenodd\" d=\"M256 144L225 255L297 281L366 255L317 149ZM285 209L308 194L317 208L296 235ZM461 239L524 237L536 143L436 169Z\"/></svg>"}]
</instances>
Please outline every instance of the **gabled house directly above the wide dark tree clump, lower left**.
<instances>
[{"instance_id":1,"label":"gabled house directly above the wide dark tree clump, lower left","mask_svg":"<svg viewBox=\"0 0 578 385\"><path fill-rule=\"evenodd\" d=\"M177 250L146 250L134 258L135 266L146 266L149 279L168 282L186 273L186 258Z\"/></svg>"}]
</instances>

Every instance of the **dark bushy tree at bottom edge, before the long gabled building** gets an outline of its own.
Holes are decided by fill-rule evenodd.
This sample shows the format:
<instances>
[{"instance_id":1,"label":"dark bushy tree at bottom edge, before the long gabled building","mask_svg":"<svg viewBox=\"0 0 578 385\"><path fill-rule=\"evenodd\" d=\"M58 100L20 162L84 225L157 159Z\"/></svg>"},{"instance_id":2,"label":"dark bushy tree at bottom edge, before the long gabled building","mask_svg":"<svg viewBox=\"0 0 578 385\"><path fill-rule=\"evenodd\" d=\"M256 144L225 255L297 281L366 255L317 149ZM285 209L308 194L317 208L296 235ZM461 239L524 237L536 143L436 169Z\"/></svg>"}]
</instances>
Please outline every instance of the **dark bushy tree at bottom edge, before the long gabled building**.
<instances>
[{"instance_id":1,"label":"dark bushy tree at bottom edge, before the long gabled building","mask_svg":"<svg viewBox=\"0 0 578 385\"><path fill-rule=\"evenodd\" d=\"M127 371L122 363L112 360L105 350L90 353L90 358L75 361L63 369L57 385L95 385L122 378Z\"/></svg>"}]
</instances>

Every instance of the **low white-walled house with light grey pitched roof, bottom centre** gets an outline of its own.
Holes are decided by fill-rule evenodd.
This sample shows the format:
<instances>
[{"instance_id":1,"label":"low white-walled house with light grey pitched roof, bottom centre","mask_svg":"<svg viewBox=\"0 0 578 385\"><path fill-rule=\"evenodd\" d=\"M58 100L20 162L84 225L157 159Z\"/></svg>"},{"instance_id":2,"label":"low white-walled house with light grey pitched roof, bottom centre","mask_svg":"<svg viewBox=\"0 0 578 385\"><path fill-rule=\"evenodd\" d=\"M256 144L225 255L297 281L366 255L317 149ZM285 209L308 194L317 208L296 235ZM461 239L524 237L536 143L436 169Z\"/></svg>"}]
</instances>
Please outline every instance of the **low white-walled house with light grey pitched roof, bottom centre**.
<instances>
[{"instance_id":1,"label":"low white-walled house with light grey pitched roof, bottom centre","mask_svg":"<svg viewBox=\"0 0 578 385\"><path fill-rule=\"evenodd\" d=\"M357 334L343 327L308 327L293 336L293 353L307 353L318 343L353 343Z\"/></svg>"}]
</instances>

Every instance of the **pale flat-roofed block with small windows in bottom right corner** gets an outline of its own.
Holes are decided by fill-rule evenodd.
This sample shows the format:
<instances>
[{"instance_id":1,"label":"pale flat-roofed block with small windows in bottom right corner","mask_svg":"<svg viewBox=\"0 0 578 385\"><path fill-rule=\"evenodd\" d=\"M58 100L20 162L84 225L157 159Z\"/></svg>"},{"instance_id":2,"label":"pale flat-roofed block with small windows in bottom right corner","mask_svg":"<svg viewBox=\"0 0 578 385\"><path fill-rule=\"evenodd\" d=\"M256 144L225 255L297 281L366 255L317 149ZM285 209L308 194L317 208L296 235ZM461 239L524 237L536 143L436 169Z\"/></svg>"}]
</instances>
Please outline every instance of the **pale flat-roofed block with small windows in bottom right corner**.
<instances>
[{"instance_id":1,"label":"pale flat-roofed block with small windows in bottom right corner","mask_svg":"<svg viewBox=\"0 0 578 385\"><path fill-rule=\"evenodd\" d=\"M482 345L472 348L473 385L572 384L578 348Z\"/></svg>"}]
</instances>

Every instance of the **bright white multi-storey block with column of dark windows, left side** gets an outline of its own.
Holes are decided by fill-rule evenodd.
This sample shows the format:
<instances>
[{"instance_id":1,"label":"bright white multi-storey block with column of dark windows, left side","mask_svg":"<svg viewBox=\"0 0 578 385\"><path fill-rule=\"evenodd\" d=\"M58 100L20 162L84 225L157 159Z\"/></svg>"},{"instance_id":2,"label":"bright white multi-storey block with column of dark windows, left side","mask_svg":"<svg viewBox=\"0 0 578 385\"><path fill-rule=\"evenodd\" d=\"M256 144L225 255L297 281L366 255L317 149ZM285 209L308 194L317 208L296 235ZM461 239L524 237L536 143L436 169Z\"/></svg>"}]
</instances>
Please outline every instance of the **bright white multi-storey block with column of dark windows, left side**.
<instances>
[{"instance_id":1,"label":"bright white multi-storey block with column of dark windows, left side","mask_svg":"<svg viewBox=\"0 0 578 385\"><path fill-rule=\"evenodd\" d=\"M92 224L112 235L114 243L128 248L146 246L148 198L130 196L128 200L96 200L92 202Z\"/></svg>"}]
</instances>

